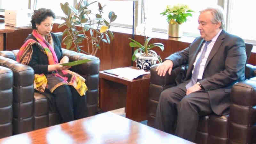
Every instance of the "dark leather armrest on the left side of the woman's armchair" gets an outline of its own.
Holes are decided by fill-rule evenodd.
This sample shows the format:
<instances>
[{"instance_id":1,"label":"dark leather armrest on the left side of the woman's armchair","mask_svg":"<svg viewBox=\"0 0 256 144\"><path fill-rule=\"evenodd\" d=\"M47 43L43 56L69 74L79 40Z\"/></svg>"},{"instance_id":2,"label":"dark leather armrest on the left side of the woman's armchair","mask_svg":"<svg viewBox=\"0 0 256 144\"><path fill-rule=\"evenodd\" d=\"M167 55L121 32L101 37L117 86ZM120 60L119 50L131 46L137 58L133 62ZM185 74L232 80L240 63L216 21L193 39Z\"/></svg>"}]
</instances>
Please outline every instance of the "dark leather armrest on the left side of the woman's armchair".
<instances>
[{"instance_id":1,"label":"dark leather armrest on the left side of the woman's armchair","mask_svg":"<svg viewBox=\"0 0 256 144\"><path fill-rule=\"evenodd\" d=\"M13 72L13 133L31 131L34 117L34 70L3 56L0 56L0 65Z\"/></svg>"}]
</instances>

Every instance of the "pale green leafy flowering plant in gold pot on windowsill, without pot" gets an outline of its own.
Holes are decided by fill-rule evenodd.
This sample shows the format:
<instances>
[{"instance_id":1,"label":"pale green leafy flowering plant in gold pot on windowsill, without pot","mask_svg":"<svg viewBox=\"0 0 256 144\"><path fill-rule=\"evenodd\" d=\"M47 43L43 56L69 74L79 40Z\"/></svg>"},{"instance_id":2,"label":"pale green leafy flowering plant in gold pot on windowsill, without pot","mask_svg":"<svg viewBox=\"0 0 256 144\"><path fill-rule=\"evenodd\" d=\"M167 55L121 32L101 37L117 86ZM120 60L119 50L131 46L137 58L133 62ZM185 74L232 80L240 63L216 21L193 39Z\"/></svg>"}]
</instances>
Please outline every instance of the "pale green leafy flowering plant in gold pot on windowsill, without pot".
<instances>
[{"instance_id":1,"label":"pale green leafy flowering plant in gold pot on windowsill, without pot","mask_svg":"<svg viewBox=\"0 0 256 144\"><path fill-rule=\"evenodd\" d=\"M194 12L188 8L188 5L178 4L174 6L167 5L167 8L160 14L167 16L167 22L170 24L179 24L187 21L187 17L192 17L190 12Z\"/></svg>"}]
</instances>

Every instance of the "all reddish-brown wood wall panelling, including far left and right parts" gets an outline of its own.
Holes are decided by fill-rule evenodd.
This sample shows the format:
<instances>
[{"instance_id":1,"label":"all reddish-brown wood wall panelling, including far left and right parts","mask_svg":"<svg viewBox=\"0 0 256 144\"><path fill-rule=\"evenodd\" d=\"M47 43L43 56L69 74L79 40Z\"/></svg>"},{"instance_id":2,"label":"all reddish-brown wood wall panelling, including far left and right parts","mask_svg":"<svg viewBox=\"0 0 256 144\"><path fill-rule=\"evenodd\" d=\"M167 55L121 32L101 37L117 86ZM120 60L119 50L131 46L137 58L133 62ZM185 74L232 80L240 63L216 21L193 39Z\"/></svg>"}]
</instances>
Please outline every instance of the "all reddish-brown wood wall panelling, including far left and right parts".
<instances>
[{"instance_id":1,"label":"all reddish-brown wood wall panelling, including far left and right parts","mask_svg":"<svg viewBox=\"0 0 256 144\"><path fill-rule=\"evenodd\" d=\"M53 25L52 32L63 32L64 27L58 28L58 24ZM23 29L16 30L13 33L8 33L6 35L6 50L14 50L19 49L23 41L27 38L28 34L32 32L32 29ZM129 47L129 43L131 40L131 34L121 33L121 32L113 32L114 39L110 45L106 43L100 43L101 49L96 54L97 57L100 58L100 70L118 68L118 67L128 67L132 65L132 48ZM140 35L135 35L135 40L140 43L144 43L144 37ZM164 51L162 52L159 48L155 48L154 50L161 56L162 59L166 58L170 54L173 54L177 51L180 51L186 47L190 43L178 41L176 39L158 39L154 38L150 41L150 43L160 42L164 44ZM86 45L86 42L84 43ZM62 44L62 47L65 46ZM84 49L87 51L87 49ZM256 53L252 53L248 63L256 65ZM133 63L135 66L135 63Z\"/></svg>"}]
</instances>

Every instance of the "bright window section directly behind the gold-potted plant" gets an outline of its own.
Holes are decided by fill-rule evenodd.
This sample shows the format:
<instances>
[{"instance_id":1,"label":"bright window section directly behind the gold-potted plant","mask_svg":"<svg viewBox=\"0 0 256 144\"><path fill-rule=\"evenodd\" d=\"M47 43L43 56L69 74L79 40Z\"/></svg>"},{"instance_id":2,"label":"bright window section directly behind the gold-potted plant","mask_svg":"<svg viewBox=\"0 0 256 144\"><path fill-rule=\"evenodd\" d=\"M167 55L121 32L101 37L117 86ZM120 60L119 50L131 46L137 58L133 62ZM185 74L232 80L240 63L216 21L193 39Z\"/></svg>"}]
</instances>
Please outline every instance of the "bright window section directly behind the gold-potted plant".
<instances>
[{"instance_id":1,"label":"bright window section directly behind the gold-potted plant","mask_svg":"<svg viewBox=\"0 0 256 144\"><path fill-rule=\"evenodd\" d=\"M154 1L146 2L146 16L147 25L151 25L153 30L167 32L168 23L166 21L167 17L160 15L166 9L167 5L176 5L176 4L186 4L189 8L195 12L192 12L192 17L187 17L187 22L182 24L182 29L184 33L189 33L190 35L199 36L199 31L197 30L198 26L198 16L199 11L207 6L216 6L218 0L179 0L178 2L173 2L170 0L161 0L161 3L156 3Z\"/></svg>"}]
</instances>

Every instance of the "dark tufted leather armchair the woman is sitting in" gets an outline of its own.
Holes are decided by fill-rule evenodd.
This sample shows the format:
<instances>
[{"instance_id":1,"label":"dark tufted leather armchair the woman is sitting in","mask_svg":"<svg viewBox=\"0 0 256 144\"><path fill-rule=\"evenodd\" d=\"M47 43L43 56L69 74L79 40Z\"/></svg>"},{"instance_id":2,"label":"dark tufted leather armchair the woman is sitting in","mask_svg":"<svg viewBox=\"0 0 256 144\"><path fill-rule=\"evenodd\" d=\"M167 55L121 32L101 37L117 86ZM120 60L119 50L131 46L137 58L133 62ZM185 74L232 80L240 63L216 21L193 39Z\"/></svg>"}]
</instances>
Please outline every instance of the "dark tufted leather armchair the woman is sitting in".
<instances>
[{"instance_id":1,"label":"dark tufted leather armchair the woman is sitting in","mask_svg":"<svg viewBox=\"0 0 256 144\"><path fill-rule=\"evenodd\" d=\"M62 33L58 33L61 40ZM34 91L34 70L16 61L17 50L0 51L0 66L10 68L13 72L13 133L24 133L60 123L56 107L50 107L45 95ZM69 61L85 58L96 59L84 64L73 66L72 71L86 79L87 108L89 116L98 113L99 69L100 60L95 56L62 49ZM51 93L47 93L51 95ZM53 104L54 105L54 104Z\"/></svg>"}]
</instances>

